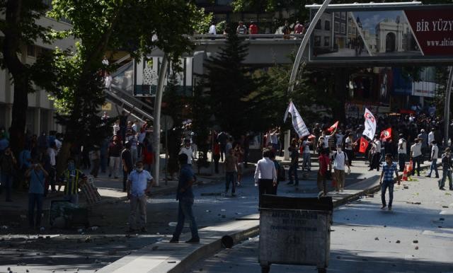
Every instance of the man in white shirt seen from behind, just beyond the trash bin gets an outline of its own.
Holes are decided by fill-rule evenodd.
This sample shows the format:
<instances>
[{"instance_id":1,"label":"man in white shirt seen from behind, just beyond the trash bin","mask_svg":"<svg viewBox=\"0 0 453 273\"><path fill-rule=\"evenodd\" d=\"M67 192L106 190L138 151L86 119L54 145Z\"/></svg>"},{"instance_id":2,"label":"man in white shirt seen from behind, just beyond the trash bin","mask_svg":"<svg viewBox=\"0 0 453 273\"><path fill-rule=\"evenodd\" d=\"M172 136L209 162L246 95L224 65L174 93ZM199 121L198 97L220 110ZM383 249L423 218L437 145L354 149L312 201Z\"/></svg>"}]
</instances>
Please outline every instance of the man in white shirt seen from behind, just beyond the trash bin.
<instances>
[{"instance_id":1,"label":"man in white shirt seen from behind, just beyond the trash bin","mask_svg":"<svg viewBox=\"0 0 453 273\"><path fill-rule=\"evenodd\" d=\"M274 194L273 187L277 185L277 170L274 161L270 160L273 152L269 149L263 151L263 158L256 164L255 185L258 185L259 205L263 194Z\"/></svg>"}]
</instances>

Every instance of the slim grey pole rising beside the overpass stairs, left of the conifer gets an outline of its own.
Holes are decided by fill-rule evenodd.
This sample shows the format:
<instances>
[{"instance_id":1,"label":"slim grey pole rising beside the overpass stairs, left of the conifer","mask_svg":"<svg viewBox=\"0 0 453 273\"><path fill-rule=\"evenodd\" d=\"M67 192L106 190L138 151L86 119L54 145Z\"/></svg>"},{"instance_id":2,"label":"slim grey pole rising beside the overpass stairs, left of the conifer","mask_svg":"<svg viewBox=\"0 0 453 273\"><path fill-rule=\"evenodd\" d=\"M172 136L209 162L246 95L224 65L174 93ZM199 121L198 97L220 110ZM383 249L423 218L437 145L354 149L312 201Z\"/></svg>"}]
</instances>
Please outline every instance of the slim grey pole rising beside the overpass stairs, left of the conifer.
<instances>
[{"instance_id":1,"label":"slim grey pole rising beside the overpass stairs, left of the conifer","mask_svg":"<svg viewBox=\"0 0 453 273\"><path fill-rule=\"evenodd\" d=\"M162 105L162 93L164 93L164 82L168 70L168 59L166 54L161 64L161 73L159 73L159 79L157 81L156 98L154 100L154 173L153 178L156 186L159 186L159 163L161 161L161 105Z\"/></svg>"}]
</instances>

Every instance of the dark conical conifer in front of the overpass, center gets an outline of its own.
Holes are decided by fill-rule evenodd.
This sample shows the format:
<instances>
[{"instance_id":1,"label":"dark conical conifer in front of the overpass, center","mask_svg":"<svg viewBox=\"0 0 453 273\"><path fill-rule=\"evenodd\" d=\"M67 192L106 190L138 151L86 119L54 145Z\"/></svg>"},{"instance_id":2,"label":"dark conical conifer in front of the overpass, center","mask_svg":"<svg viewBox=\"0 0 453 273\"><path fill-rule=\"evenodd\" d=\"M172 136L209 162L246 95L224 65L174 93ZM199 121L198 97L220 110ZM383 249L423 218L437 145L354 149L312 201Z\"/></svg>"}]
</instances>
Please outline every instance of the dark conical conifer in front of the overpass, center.
<instances>
[{"instance_id":1,"label":"dark conical conifer in front of the overpass, center","mask_svg":"<svg viewBox=\"0 0 453 273\"><path fill-rule=\"evenodd\" d=\"M236 32L229 31L226 45L219 53L207 60L207 73L203 76L209 89L207 95L216 122L233 136L240 136L250 123L244 115L250 103L246 98L256 90L257 82L251 67L243 64L248 45Z\"/></svg>"}]
</instances>

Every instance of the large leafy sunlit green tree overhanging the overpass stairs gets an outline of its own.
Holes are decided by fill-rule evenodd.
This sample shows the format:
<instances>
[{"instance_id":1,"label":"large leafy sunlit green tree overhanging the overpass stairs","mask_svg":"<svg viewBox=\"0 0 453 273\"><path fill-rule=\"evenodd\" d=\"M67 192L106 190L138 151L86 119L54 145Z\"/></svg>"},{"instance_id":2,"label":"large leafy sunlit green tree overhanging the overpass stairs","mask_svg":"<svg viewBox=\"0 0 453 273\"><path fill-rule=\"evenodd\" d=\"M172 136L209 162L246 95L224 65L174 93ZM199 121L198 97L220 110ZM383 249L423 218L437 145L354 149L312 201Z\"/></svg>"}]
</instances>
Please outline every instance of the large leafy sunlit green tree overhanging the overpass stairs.
<instances>
[{"instance_id":1,"label":"large leafy sunlit green tree overhanging the overpass stairs","mask_svg":"<svg viewBox=\"0 0 453 273\"><path fill-rule=\"evenodd\" d=\"M54 76L47 86L64 108L59 115L66 128L64 161L79 134L97 127L89 122L105 101L99 74L110 69L101 62L105 52L120 49L139 59L159 47L177 62L192 45L183 34L193 33L204 13L183 0L54 0L52 6L50 16L66 18L73 25L63 34L78 41L74 52L56 52L50 64Z\"/></svg>"}]
</instances>

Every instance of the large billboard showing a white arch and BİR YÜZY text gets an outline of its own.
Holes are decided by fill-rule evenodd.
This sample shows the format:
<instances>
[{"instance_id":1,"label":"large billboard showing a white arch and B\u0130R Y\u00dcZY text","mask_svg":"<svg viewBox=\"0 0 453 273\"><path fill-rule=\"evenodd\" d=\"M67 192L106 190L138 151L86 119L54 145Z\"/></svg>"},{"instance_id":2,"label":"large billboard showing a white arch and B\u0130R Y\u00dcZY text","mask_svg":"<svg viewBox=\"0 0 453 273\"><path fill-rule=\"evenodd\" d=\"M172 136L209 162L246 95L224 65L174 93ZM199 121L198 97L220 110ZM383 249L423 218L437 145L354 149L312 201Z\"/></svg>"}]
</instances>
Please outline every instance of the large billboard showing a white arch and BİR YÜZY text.
<instances>
[{"instance_id":1,"label":"large billboard showing a white arch and B\u0130R Y\u00dcZY text","mask_svg":"<svg viewBox=\"0 0 453 273\"><path fill-rule=\"evenodd\" d=\"M310 37L309 62L453 62L453 5L328 7Z\"/></svg>"}]
</instances>

